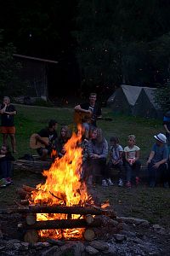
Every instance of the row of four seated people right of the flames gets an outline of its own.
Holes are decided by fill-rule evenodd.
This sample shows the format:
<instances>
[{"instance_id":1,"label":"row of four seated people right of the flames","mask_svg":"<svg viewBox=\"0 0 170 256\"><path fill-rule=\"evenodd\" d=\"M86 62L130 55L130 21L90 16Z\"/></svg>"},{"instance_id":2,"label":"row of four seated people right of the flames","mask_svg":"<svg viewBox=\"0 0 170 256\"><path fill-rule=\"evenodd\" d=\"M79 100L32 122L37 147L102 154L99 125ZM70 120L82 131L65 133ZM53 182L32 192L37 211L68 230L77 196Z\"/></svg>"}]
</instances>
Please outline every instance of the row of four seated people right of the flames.
<instances>
[{"instance_id":1,"label":"row of four seated people right of the flames","mask_svg":"<svg viewBox=\"0 0 170 256\"><path fill-rule=\"evenodd\" d=\"M151 188L156 184L162 183L165 188L169 187L170 171L168 166L168 148L165 135L159 133L154 136L156 143L150 151L150 156L146 162L148 183ZM88 156L84 163L82 179L89 185L95 182L96 173L102 176L102 186L112 186L114 183L122 187L125 183L127 188L132 184L139 184L141 162L140 148L135 143L135 136L127 137L127 146L122 148L118 137L111 137L110 146L102 131L99 128L93 128L86 147L88 147ZM87 151L87 150L86 150ZM111 170L118 170L118 180L114 182L111 179ZM114 173L112 173L114 176Z\"/></svg>"}]
</instances>

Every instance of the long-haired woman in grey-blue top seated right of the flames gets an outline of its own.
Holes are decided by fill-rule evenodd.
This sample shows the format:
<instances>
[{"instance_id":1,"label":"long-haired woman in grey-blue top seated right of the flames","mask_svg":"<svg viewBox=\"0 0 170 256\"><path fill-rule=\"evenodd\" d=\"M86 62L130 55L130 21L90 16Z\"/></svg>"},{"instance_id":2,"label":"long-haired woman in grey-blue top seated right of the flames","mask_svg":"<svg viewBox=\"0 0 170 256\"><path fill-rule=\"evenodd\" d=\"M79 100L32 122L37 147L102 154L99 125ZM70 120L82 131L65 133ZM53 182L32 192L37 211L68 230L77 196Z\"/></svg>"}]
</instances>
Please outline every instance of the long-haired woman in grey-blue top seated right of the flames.
<instances>
[{"instance_id":1,"label":"long-haired woman in grey-blue top seated right of the flames","mask_svg":"<svg viewBox=\"0 0 170 256\"><path fill-rule=\"evenodd\" d=\"M88 178L88 184L93 183L93 179L96 172L102 175L102 185L107 186L107 168L106 160L108 155L108 143L103 136L103 132L100 128L93 127L91 131L91 139L88 143L89 150L89 164L91 169L91 175Z\"/></svg>"}]
</instances>

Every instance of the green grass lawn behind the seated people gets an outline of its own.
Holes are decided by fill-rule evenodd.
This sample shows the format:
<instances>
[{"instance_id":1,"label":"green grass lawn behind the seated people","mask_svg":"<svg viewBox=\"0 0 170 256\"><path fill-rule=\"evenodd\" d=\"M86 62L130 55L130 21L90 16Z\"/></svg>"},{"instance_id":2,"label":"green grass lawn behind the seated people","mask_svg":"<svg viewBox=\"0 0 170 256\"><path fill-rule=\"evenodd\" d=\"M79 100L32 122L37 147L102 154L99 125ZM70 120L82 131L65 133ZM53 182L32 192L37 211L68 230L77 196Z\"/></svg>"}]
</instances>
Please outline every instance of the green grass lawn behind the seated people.
<instances>
[{"instance_id":1,"label":"green grass lawn behind the seated people","mask_svg":"<svg viewBox=\"0 0 170 256\"><path fill-rule=\"evenodd\" d=\"M49 119L56 119L59 122L58 134L61 125L73 124L73 108L45 108L26 105L16 105L15 107L18 111L14 116L18 156L30 152L31 134L48 125ZM141 160L143 161L150 154L150 148L154 143L153 136L158 132L164 132L161 120L114 115L110 108L103 108L103 116L113 119L112 121L98 121L108 142L111 136L118 136L122 147L125 147L127 136L134 134L136 144L141 148ZM0 139L2 142L2 137Z\"/></svg>"}]
</instances>

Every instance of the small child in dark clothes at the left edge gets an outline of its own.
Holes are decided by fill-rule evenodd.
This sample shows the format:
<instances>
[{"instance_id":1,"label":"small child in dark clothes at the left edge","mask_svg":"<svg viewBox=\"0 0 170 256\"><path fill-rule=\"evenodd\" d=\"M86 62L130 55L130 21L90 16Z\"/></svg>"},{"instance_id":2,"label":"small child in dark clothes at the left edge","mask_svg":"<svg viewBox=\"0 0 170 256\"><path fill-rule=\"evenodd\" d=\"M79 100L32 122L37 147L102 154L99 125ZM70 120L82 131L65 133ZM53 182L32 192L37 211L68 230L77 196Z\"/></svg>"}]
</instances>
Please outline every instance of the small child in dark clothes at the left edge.
<instances>
[{"instance_id":1,"label":"small child in dark clothes at the left edge","mask_svg":"<svg viewBox=\"0 0 170 256\"><path fill-rule=\"evenodd\" d=\"M0 188L5 188L9 184L13 184L11 179L13 155L9 151L8 146L3 145L0 149Z\"/></svg>"}]
</instances>

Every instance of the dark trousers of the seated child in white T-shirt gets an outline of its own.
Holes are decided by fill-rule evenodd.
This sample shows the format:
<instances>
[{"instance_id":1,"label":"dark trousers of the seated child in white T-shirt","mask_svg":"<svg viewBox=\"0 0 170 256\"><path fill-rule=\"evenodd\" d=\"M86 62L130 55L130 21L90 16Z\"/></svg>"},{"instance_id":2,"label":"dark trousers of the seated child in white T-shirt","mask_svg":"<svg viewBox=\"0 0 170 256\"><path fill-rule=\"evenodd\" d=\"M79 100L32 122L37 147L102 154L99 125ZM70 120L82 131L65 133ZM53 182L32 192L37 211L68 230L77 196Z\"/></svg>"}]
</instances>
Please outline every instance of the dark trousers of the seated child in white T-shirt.
<instances>
[{"instance_id":1,"label":"dark trousers of the seated child in white T-shirt","mask_svg":"<svg viewBox=\"0 0 170 256\"><path fill-rule=\"evenodd\" d=\"M141 163L139 160L136 160L133 165L125 162L125 171L127 175L127 182L131 182L133 177L139 177Z\"/></svg>"}]
</instances>

